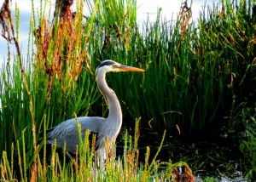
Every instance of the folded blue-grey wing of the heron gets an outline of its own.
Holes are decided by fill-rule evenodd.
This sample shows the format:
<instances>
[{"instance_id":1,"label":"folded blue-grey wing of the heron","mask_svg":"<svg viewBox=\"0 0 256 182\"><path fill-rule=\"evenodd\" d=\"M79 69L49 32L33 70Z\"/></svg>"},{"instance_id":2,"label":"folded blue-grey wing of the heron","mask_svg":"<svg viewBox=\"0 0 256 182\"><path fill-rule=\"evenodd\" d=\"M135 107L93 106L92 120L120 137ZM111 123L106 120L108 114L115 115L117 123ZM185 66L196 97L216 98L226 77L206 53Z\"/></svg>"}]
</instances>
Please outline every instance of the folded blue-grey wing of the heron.
<instances>
[{"instance_id":1,"label":"folded blue-grey wing of the heron","mask_svg":"<svg viewBox=\"0 0 256 182\"><path fill-rule=\"evenodd\" d=\"M90 133L97 134L104 124L105 118L102 117L78 117L81 125L81 135L84 139L86 130ZM66 122L61 122L54 128L47 130L47 144L54 144L56 139L56 145L64 147L66 142L66 149L69 152L75 153L77 145L79 145L79 132L76 119L69 119Z\"/></svg>"}]
</instances>

